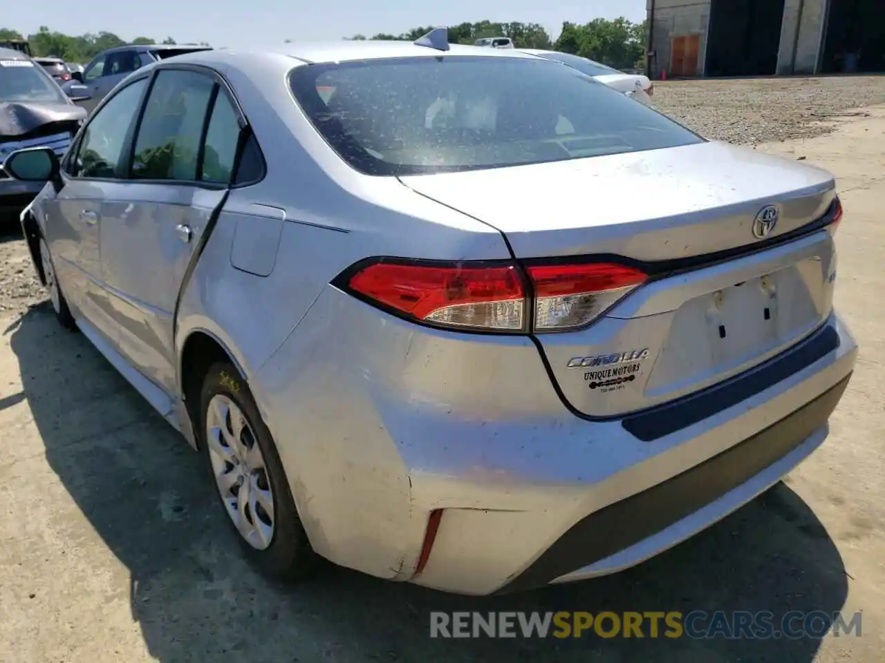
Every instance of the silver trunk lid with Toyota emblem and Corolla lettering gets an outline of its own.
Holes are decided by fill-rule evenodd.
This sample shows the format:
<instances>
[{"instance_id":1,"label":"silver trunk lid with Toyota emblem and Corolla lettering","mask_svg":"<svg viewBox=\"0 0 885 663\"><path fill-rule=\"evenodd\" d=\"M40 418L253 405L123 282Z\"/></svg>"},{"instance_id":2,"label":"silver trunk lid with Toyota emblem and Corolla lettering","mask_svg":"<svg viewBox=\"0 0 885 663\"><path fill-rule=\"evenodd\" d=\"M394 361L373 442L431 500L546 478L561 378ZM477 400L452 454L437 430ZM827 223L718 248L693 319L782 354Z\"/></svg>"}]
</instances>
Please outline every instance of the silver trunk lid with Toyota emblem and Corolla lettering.
<instances>
[{"instance_id":1,"label":"silver trunk lid with Toyota emblem and Corolla lettering","mask_svg":"<svg viewBox=\"0 0 885 663\"><path fill-rule=\"evenodd\" d=\"M715 385L804 339L832 309L833 238L804 229L831 209L835 183L807 164L708 142L403 181L495 226L520 261L626 259L652 274L593 324L536 336L584 415ZM779 217L760 239L767 206Z\"/></svg>"}]
</instances>

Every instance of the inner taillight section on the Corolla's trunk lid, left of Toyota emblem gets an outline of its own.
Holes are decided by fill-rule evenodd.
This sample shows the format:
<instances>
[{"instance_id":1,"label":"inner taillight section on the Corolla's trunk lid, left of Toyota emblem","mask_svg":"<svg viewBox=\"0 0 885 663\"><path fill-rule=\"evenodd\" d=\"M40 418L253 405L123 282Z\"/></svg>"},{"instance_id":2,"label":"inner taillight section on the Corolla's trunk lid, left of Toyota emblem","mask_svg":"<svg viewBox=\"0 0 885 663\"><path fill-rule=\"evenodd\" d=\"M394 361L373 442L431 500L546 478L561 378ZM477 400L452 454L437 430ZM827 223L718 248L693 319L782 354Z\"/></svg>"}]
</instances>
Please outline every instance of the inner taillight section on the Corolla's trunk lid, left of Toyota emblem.
<instances>
[{"instance_id":1,"label":"inner taillight section on the Corolla's trunk lid, left of Toyota emblem","mask_svg":"<svg viewBox=\"0 0 885 663\"><path fill-rule=\"evenodd\" d=\"M613 263L535 265L528 276L535 285L535 331L589 324L648 278Z\"/></svg>"}]
</instances>

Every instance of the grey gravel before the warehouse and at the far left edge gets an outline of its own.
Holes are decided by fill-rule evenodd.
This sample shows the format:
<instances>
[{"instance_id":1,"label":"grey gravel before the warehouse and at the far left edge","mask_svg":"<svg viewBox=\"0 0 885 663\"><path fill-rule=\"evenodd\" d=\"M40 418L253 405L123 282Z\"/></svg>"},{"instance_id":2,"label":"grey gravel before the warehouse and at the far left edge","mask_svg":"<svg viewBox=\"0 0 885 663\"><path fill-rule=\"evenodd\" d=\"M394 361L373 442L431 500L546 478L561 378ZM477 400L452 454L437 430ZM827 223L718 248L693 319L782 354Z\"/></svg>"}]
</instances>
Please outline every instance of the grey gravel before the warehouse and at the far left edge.
<instances>
[{"instance_id":1,"label":"grey gravel before the warehouse and at the far left edge","mask_svg":"<svg viewBox=\"0 0 885 663\"><path fill-rule=\"evenodd\" d=\"M656 83L654 103L707 138L741 144L810 138L829 133L852 110L885 103L885 76L673 80ZM0 316L45 300L18 235L14 220L0 229Z\"/></svg>"}]
</instances>

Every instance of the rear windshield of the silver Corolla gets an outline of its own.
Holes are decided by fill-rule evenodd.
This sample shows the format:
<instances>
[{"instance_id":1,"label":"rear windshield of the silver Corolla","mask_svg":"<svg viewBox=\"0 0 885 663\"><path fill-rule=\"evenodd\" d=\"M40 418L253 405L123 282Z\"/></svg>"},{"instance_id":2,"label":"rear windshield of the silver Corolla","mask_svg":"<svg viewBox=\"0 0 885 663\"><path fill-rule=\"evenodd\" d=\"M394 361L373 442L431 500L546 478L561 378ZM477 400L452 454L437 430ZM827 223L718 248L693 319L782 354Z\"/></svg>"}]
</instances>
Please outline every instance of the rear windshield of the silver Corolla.
<instances>
[{"instance_id":1,"label":"rear windshield of the silver Corolla","mask_svg":"<svg viewBox=\"0 0 885 663\"><path fill-rule=\"evenodd\" d=\"M296 67L297 102L370 175L539 164L703 139L581 72L528 57L408 57Z\"/></svg>"}]
</instances>

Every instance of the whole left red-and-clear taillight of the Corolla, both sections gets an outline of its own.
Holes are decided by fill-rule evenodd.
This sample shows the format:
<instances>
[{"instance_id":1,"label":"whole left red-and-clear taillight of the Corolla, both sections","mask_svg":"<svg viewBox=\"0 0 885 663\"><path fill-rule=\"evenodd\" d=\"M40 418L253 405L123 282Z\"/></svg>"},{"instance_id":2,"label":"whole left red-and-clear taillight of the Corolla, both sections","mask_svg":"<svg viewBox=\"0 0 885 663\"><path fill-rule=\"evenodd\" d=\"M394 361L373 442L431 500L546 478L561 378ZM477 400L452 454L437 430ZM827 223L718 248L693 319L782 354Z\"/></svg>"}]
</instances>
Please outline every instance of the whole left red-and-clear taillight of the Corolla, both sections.
<instances>
[{"instance_id":1,"label":"whole left red-and-clear taillight of the Corolla, both sections","mask_svg":"<svg viewBox=\"0 0 885 663\"><path fill-rule=\"evenodd\" d=\"M532 292L511 263L379 260L346 283L371 303L416 321L484 331L563 331L584 326L642 285L643 271L616 263L533 264Z\"/></svg>"}]
</instances>

